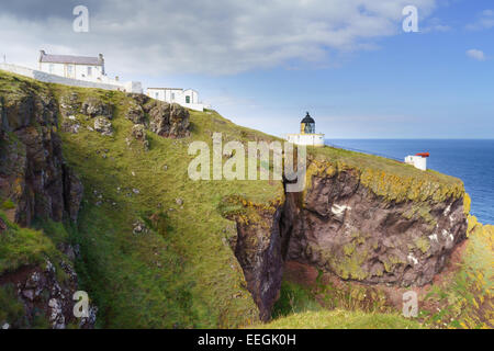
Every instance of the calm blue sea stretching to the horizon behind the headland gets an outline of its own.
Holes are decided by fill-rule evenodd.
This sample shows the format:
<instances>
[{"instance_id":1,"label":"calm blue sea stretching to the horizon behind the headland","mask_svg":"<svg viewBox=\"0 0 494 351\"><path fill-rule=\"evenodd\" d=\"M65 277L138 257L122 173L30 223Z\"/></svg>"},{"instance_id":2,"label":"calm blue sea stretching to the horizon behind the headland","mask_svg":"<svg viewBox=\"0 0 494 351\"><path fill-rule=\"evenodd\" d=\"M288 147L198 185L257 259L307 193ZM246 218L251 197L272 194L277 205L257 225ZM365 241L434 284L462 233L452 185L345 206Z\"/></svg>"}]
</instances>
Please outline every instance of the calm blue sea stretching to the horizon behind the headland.
<instances>
[{"instance_id":1,"label":"calm blue sea stretching to the horizon behind the headland","mask_svg":"<svg viewBox=\"0 0 494 351\"><path fill-rule=\"evenodd\" d=\"M472 214L494 224L494 139L330 139L327 145L403 160L430 152L428 168L460 178L472 197Z\"/></svg>"}]
</instances>

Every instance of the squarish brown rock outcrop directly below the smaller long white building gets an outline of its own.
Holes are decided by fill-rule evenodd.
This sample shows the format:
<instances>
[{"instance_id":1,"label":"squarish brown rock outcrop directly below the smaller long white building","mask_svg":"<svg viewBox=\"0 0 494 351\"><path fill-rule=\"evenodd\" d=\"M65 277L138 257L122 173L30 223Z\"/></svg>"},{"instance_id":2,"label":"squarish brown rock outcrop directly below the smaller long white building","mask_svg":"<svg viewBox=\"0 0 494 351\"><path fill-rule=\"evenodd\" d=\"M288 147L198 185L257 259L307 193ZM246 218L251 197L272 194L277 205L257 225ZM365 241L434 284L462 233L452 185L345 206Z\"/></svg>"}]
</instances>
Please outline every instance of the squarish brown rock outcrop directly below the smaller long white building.
<instances>
[{"instance_id":1,"label":"squarish brown rock outcrop directly below the smaller long white building","mask_svg":"<svg viewBox=\"0 0 494 351\"><path fill-rule=\"evenodd\" d=\"M167 138L190 135L189 111L179 104L154 101L149 106L149 129Z\"/></svg>"}]
</instances>

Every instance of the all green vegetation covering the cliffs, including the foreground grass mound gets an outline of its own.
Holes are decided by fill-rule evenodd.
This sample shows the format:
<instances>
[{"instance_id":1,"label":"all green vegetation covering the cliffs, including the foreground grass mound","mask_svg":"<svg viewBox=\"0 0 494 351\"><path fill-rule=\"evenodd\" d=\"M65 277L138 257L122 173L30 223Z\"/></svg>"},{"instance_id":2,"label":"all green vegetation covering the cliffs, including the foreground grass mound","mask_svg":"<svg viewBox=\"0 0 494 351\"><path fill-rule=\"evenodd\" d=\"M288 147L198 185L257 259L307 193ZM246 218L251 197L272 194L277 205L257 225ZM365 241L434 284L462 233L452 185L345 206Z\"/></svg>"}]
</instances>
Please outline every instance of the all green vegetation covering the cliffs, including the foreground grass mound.
<instances>
[{"instance_id":1,"label":"all green vegetation covering the cliffs, including the foreground grass mound","mask_svg":"<svg viewBox=\"0 0 494 351\"><path fill-rule=\"evenodd\" d=\"M155 115L166 113L166 106L155 101L0 73L0 110L19 97L38 92L57 102L57 125L52 132L60 136L64 159L83 184L83 200L77 224L67 216L64 225L45 218L37 222L36 231L12 224L13 218L5 215L18 204L0 194L1 218L19 235L0 247L0 267L15 270L42 261L60 242L57 238L64 237L79 248L80 288L99 307L98 327L235 328L258 324L259 307L248 291L233 241L238 237L237 224L254 225L259 235L250 241L269 247L266 240L270 235L261 231L272 227L273 218L266 214L274 216L284 201L283 183L192 181L188 167L195 156L189 155L188 148L191 141L201 140L212 150L213 133L222 133L224 144L279 139L239 127L214 111L189 111L190 133L180 122L176 129L167 129ZM182 115L177 110L177 120ZM175 138L173 131L180 136ZM11 132L3 132L14 139ZM454 178L423 173L379 157L332 148L311 149L310 155L308 183L313 174L351 169L362 184L390 203L441 202L460 199L464 192ZM427 217L420 208L409 215ZM11 237L1 236L0 240ZM353 252L355 248L346 248L347 257ZM8 299L2 296L10 296L9 292L0 296ZM12 309L15 314L15 305ZM293 316L279 326L417 327L396 316L366 313L321 309Z\"/></svg>"}]
</instances>

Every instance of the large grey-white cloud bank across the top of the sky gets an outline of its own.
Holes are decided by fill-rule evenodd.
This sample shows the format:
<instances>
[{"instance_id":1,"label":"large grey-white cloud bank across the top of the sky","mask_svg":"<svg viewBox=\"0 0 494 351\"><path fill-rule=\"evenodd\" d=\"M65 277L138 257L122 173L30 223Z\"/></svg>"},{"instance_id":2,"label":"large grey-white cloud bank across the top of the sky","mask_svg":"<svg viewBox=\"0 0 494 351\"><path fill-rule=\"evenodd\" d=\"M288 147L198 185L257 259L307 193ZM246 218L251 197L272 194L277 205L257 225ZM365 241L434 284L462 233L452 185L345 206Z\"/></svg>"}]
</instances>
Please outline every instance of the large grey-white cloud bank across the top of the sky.
<instances>
[{"instance_id":1,"label":"large grey-white cloud bank across the top of the sky","mask_svg":"<svg viewBox=\"0 0 494 351\"><path fill-rule=\"evenodd\" d=\"M409 0L190 0L187 5L177 0L87 0L90 33L74 33L71 9L64 16L60 3L46 2L47 18L41 20L3 11L0 50L11 61L31 66L41 48L103 53L110 71L120 73L222 75L328 65L338 56L334 54L374 47L380 37L401 33L402 10ZM414 4L422 21L436 0ZM50 8L56 15L48 16Z\"/></svg>"}]
</instances>

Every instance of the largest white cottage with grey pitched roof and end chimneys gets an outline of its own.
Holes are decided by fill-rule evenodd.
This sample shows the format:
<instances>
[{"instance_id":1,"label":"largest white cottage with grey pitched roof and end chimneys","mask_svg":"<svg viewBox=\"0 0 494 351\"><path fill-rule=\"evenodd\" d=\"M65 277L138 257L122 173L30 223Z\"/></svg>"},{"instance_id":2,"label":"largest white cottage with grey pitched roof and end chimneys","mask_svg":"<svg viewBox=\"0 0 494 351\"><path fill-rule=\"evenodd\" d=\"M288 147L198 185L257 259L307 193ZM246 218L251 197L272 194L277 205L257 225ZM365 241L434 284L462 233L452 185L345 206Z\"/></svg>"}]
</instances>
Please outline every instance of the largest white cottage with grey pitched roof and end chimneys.
<instances>
[{"instance_id":1,"label":"largest white cottage with grey pitched roof and end chimneys","mask_svg":"<svg viewBox=\"0 0 494 351\"><path fill-rule=\"evenodd\" d=\"M40 70L46 73L79 80L103 81L105 78L104 58L102 54L98 57L86 57L48 55L45 50L41 50Z\"/></svg>"}]
</instances>

